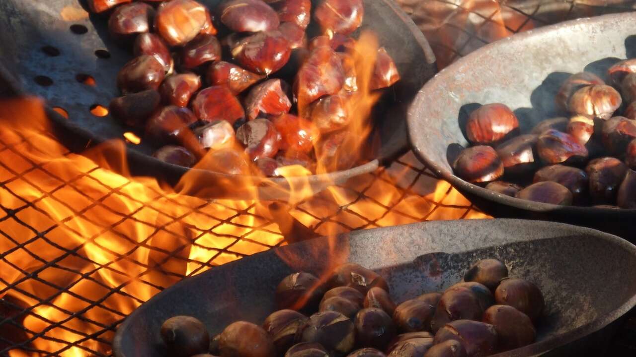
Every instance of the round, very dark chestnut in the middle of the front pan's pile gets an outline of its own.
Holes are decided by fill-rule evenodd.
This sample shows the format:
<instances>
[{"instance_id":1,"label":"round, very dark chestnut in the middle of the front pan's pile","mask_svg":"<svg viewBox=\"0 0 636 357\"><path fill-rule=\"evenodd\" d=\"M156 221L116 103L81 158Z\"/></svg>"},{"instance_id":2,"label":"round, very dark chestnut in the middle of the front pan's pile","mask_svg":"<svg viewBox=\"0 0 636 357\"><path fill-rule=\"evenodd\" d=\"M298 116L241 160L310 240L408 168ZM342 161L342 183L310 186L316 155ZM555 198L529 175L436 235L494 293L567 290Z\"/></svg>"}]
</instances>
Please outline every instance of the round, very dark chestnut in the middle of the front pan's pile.
<instances>
[{"instance_id":1,"label":"round, very dark chestnut in the middle of the front pan's pile","mask_svg":"<svg viewBox=\"0 0 636 357\"><path fill-rule=\"evenodd\" d=\"M396 337L396 327L391 316L382 309L370 307L356 314L356 344L384 351Z\"/></svg>"}]
</instances>

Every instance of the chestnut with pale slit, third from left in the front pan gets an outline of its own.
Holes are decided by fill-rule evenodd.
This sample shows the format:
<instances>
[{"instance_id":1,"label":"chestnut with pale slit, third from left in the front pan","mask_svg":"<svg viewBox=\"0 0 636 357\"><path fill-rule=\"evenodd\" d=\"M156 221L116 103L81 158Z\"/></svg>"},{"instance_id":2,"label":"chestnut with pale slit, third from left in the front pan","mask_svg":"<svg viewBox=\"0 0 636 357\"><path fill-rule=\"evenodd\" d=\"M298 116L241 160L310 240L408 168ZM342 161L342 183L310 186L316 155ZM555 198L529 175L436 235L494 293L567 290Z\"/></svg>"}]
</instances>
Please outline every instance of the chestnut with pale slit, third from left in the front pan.
<instances>
[{"instance_id":1,"label":"chestnut with pale slit, third from left in the front pan","mask_svg":"<svg viewBox=\"0 0 636 357\"><path fill-rule=\"evenodd\" d=\"M270 335L279 355L294 345L298 330L307 322L307 317L294 310L279 310L270 314L263 328Z\"/></svg>"}]
</instances>

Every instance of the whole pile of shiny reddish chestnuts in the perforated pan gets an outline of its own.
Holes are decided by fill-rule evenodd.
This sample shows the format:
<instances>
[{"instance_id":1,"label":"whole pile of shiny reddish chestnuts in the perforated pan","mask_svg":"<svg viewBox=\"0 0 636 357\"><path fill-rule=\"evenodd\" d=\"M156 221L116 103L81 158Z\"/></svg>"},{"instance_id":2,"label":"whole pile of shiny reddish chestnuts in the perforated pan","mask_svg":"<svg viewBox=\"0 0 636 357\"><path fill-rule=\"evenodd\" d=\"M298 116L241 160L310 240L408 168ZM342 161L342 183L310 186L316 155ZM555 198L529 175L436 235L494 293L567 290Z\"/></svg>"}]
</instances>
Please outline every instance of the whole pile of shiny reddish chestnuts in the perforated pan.
<instances>
[{"instance_id":1,"label":"whole pile of shiny reddish chestnuts in the perforated pan","mask_svg":"<svg viewBox=\"0 0 636 357\"><path fill-rule=\"evenodd\" d=\"M195 0L88 0L93 12L110 13L111 36L135 55L117 76L123 97L111 114L176 165L207 155L207 169L228 174L313 172L317 158L349 168L337 153L350 104L399 74L380 48L359 88L356 58L370 54L349 36L363 21L362 0L315 3L227 0L211 12Z\"/></svg>"}]
</instances>

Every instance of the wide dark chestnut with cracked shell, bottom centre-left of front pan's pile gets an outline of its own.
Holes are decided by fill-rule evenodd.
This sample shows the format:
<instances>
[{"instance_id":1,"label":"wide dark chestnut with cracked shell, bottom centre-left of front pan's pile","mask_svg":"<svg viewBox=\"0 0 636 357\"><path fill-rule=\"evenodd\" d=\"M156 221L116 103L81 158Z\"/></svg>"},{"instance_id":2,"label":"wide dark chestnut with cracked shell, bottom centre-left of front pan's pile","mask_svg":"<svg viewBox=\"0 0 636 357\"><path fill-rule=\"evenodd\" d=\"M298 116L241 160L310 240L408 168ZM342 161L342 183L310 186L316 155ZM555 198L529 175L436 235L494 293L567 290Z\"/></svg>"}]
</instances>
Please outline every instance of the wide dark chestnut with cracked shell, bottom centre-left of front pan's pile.
<instances>
[{"instance_id":1,"label":"wide dark chestnut with cracked shell, bottom centre-left of front pan's pile","mask_svg":"<svg viewBox=\"0 0 636 357\"><path fill-rule=\"evenodd\" d=\"M356 341L353 321L336 311L324 311L310 316L300 335L301 342L317 342L330 354L349 353Z\"/></svg>"}]
</instances>

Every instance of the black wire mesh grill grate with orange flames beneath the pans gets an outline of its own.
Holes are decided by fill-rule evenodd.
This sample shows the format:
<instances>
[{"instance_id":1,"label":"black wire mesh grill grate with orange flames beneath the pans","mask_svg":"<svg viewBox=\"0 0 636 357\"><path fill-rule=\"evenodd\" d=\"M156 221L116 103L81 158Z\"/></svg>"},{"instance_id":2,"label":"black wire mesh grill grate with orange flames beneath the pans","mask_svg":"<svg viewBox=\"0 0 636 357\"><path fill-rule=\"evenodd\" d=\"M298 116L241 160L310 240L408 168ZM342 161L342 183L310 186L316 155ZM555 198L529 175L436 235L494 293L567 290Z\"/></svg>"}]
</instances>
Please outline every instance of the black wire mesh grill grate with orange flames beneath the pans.
<instances>
[{"instance_id":1,"label":"black wire mesh grill grate with orange flames beneath the pans","mask_svg":"<svg viewBox=\"0 0 636 357\"><path fill-rule=\"evenodd\" d=\"M440 67L514 32L633 8L611 0L398 2ZM175 197L39 134L0 132L0 355L108 356L117 325L155 293L285 244L264 209L272 202ZM73 170L60 172L64 165ZM411 152L296 205L273 204L307 235L485 217ZM96 233L83 235L88 226Z\"/></svg>"}]
</instances>

